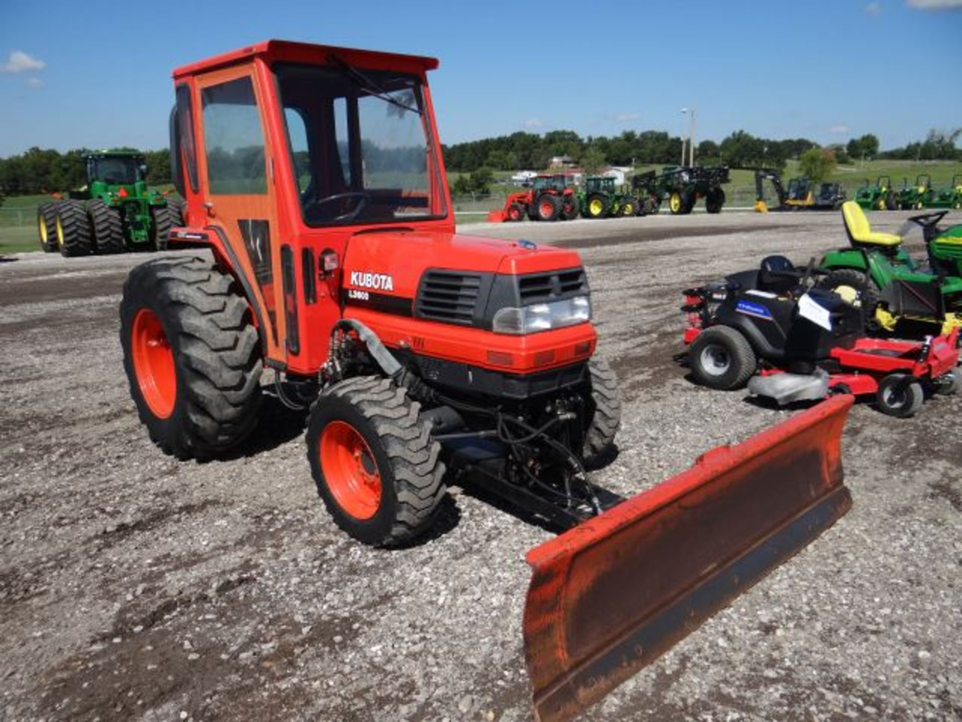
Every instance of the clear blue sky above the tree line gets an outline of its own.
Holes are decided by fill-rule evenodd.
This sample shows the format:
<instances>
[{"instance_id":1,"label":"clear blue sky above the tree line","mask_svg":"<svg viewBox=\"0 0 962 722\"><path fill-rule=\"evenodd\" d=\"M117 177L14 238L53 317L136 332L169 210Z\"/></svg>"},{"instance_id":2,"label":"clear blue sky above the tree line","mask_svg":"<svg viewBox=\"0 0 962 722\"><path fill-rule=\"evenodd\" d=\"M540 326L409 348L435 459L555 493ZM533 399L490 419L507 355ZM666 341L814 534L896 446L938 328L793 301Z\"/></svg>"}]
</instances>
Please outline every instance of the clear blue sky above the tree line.
<instances>
[{"instance_id":1,"label":"clear blue sky above the tree line","mask_svg":"<svg viewBox=\"0 0 962 722\"><path fill-rule=\"evenodd\" d=\"M0 156L165 147L171 69L268 38L440 58L447 143L677 134L683 107L698 140L873 132L886 148L962 126L962 0L0 0Z\"/></svg>"}]
</instances>

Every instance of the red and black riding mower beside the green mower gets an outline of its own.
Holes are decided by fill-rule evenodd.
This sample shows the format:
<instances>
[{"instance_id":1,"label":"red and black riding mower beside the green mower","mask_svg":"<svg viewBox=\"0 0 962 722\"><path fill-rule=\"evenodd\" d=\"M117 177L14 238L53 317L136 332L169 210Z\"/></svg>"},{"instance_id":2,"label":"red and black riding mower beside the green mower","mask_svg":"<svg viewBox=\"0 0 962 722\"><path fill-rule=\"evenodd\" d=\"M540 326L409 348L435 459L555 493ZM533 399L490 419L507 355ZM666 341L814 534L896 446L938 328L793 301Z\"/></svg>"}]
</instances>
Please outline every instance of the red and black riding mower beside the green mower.
<instances>
[{"instance_id":1,"label":"red and black riding mower beside the green mower","mask_svg":"<svg viewBox=\"0 0 962 722\"><path fill-rule=\"evenodd\" d=\"M890 416L912 416L933 393L958 386L958 332L924 342L872 339L862 311L816 288L813 258L798 269L769 256L759 269L684 293L684 341L696 381L712 389L746 385L787 404L832 394L871 396Z\"/></svg>"}]
</instances>

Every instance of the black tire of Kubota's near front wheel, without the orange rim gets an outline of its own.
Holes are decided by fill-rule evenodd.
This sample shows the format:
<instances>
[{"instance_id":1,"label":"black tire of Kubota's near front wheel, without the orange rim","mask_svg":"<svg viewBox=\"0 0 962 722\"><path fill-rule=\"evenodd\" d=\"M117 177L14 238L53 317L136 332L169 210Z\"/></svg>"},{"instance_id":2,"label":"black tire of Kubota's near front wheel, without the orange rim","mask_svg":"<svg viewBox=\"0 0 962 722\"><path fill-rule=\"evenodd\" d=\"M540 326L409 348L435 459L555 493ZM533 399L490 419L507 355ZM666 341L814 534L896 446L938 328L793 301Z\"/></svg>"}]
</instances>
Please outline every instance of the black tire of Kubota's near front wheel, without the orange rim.
<instances>
[{"instance_id":1,"label":"black tire of Kubota's near front wheel, without the orange rim","mask_svg":"<svg viewBox=\"0 0 962 722\"><path fill-rule=\"evenodd\" d=\"M318 397L315 405L332 396L361 412L373 426L391 462L397 509L392 528L381 545L395 546L414 539L433 526L446 491L441 444L431 437L430 423L420 418L420 403L410 400L404 389L381 376L355 376L342 381ZM320 483L318 480L318 491ZM327 503L327 498L321 496ZM332 516L338 526L350 532L338 514Z\"/></svg>"}]
</instances>

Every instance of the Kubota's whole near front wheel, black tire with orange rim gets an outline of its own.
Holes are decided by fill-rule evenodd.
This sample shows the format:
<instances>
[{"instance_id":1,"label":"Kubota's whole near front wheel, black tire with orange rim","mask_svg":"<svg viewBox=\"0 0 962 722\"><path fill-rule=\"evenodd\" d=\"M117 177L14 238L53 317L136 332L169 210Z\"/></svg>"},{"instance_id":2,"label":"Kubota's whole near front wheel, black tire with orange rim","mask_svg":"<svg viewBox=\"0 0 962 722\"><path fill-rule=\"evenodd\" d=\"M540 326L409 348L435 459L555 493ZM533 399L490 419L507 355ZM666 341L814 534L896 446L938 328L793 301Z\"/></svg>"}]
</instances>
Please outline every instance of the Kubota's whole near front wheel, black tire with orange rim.
<instances>
[{"instance_id":1,"label":"Kubota's whole near front wheel, black tire with orange rim","mask_svg":"<svg viewBox=\"0 0 962 722\"><path fill-rule=\"evenodd\" d=\"M444 497L441 444L420 404L392 380L332 386L311 407L306 440L317 493L348 535L390 547L434 525Z\"/></svg>"}]
</instances>

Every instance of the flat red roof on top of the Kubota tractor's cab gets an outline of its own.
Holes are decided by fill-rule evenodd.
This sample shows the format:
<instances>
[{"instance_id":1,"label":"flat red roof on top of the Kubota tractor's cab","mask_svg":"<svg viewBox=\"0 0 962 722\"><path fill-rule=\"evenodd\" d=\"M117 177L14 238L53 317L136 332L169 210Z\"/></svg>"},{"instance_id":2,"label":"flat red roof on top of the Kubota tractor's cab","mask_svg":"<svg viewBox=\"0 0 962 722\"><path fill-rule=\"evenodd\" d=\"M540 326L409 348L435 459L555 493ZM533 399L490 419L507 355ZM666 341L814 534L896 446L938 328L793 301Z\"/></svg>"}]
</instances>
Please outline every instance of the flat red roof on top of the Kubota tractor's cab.
<instances>
[{"instance_id":1,"label":"flat red roof on top of the Kubota tractor's cab","mask_svg":"<svg viewBox=\"0 0 962 722\"><path fill-rule=\"evenodd\" d=\"M255 58L262 58L268 63L286 61L289 63L329 64L329 55L337 55L347 63L370 69L424 71L434 70L438 67L436 58L419 55L400 55L398 53L359 50L335 45L292 42L291 40L265 40L232 50L229 53L215 55L207 60L182 65L174 70L173 77L176 80L190 75L199 75L228 65L250 63Z\"/></svg>"}]
</instances>

